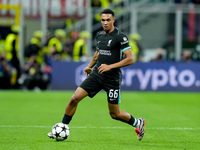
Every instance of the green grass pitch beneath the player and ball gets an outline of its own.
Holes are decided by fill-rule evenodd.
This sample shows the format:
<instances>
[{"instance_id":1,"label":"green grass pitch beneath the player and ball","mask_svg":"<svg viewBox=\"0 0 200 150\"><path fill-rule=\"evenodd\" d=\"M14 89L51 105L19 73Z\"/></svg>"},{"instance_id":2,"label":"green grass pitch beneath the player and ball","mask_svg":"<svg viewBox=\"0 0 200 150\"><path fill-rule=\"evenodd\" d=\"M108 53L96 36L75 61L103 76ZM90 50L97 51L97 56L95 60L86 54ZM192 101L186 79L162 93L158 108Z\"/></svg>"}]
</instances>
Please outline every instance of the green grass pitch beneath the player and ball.
<instances>
[{"instance_id":1,"label":"green grass pitch beneath the player and ball","mask_svg":"<svg viewBox=\"0 0 200 150\"><path fill-rule=\"evenodd\" d=\"M106 93L79 103L67 140L47 133L61 122L72 91L0 91L0 150L198 150L200 94L122 92L121 110L146 119L134 128L109 116Z\"/></svg>"}]
</instances>

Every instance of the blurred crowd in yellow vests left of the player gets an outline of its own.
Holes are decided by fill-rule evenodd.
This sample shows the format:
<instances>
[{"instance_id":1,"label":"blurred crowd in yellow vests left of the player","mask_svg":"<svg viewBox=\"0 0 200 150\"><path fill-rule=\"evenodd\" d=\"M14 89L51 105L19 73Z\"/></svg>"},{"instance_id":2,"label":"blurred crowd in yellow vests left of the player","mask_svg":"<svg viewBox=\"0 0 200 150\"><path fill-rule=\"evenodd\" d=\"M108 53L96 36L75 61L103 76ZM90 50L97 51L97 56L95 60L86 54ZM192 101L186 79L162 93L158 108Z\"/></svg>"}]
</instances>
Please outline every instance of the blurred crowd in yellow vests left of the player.
<instances>
[{"instance_id":1,"label":"blurred crowd in yellow vests left of the player","mask_svg":"<svg viewBox=\"0 0 200 150\"><path fill-rule=\"evenodd\" d=\"M37 30L24 48L24 64L19 60L20 27L13 25L5 39L0 38L0 89L46 90L50 86L52 60L85 61L88 56L87 31L56 29L44 35ZM45 36L46 41L41 40Z\"/></svg>"}]
</instances>

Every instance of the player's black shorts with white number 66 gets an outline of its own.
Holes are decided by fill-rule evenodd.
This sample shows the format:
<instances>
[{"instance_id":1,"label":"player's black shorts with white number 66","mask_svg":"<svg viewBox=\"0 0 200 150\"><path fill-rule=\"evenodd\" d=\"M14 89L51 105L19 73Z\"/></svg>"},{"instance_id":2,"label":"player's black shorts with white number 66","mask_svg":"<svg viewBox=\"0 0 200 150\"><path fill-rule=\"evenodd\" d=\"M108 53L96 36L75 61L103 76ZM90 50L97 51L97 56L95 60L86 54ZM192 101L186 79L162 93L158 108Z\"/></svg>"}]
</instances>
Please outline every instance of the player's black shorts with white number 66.
<instances>
[{"instance_id":1,"label":"player's black shorts with white number 66","mask_svg":"<svg viewBox=\"0 0 200 150\"><path fill-rule=\"evenodd\" d=\"M105 90L107 100L111 104L119 104L121 102L120 93L121 81L101 79L94 74L90 74L80 85L87 91L89 97L94 97L100 90Z\"/></svg>"}]
</instances>

